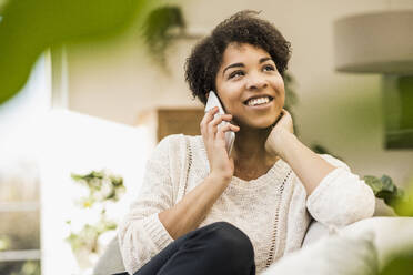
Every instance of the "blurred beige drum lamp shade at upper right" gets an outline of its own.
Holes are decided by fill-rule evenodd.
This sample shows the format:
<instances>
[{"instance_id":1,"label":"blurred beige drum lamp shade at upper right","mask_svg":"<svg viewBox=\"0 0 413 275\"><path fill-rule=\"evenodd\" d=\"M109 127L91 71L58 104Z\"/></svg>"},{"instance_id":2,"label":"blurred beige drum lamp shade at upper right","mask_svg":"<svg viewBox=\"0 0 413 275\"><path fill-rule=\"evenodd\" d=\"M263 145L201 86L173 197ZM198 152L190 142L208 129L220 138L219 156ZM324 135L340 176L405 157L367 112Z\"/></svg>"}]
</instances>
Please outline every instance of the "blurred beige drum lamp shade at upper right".
<instances>
[{"instance_id":1,"label":"blurred beige drum lamp shade at upper right","mask_svg":"<svg viewBox=\"0 0 413 275\"><path fill-rule=\"evenodd\" d=\"M413 73L413 10L339 19L334 48L336 71Z\"/></svg>"}]
</instances>

